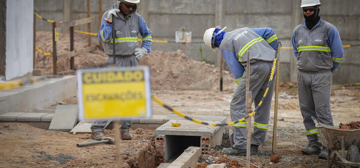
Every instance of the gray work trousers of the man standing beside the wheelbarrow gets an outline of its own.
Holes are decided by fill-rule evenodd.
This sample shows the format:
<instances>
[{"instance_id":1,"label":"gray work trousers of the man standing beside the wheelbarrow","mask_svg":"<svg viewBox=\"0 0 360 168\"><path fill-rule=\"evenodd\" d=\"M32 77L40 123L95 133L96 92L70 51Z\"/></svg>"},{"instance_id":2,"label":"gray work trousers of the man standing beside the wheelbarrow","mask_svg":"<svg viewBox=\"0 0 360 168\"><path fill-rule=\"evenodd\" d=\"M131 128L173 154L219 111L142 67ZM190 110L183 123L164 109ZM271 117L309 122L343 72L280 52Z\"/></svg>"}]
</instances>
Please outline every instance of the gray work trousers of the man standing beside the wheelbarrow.
<instances>
[{"instance_id":1,"label":"gray work trousers of the man standing beside the wheelbarrow","mask_svg":"<svg viewBox=\"0 0 360 168\"><path fill-rule=\"evenodd\" d=\"M330 108L330 93L333 75L330 70L316 72L297 71L297 90L300 111L306 129L309 146L322 149L318 130L311 116L318 122L333 126Z\"/></svg>"}]
</instances>

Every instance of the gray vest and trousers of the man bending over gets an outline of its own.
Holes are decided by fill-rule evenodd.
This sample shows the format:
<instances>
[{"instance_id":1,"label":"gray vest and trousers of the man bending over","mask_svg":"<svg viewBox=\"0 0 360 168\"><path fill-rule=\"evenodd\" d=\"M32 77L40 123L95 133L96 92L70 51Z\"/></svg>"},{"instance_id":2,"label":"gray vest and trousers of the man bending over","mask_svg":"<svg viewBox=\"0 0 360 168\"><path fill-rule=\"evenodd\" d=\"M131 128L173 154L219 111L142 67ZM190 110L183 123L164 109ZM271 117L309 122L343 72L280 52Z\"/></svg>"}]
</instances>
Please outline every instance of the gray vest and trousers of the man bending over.
<instances>
[{"instance_id":1,"label":"gray vest and trousers of the man bending over","mask_svg":"<svg viewBox=\"0 0 360 168\"><path fill-rule=\"evenodd\" d=\"M246 31L241 36L236 36L241 32ZM234 38L234 36L236 38ZM250 70L249 91L252 92L252 101L255 101L257 106L264 93L266 92L267 84L271 75L271 69L275 58L275 50L271 48L264 38L250 28L244 27L235 29L232 32L226 33L219 46L220 50L228 50L237 55L238 61L245 67L243 77L239 81L239 85L235 90L233 99L230 102L230 115L232 121L238 121L245 117L246 111L246 73ZM247 50L250 51L250 67L246 67ZM274 77L276 78L276 67ZM275 81L275 80L273 80ZM273 97L274 82L271 84L267 95L262 102L258 111L256 111L254 132L251 136L251 144L261 145L264 143L267 127L269 124L271 99ZM240 122L233 125L234 130L234 148L246 149L247 147L247 122Z\"/></svg>"}]
</instances>

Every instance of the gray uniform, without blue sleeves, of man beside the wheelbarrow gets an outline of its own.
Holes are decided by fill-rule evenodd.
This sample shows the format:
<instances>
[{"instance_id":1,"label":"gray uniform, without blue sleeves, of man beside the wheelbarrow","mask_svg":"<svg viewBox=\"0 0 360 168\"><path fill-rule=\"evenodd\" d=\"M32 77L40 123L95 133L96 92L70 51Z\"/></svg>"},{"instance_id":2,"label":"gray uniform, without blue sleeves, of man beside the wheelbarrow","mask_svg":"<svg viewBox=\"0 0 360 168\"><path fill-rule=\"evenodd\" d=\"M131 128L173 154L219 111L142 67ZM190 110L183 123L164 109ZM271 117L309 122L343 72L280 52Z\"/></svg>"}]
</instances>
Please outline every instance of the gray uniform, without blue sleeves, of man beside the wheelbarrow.
<instances>
[{"instance_id":1,"label":"gray uniform, without blue sleeves, of man beside the wheelbarrow","mask_svg":"<svg viewBox=\"0 0 360 168\"><path fill-rule=\"evenodd\" d=\"M300 111L309 146L322 149L318 130L311 116L333 126L330 108L333 60L329 47L329 33L334 26L324 20L309 30L298 25L293 33L297 47L297 89Z\"/></svg>"}]
</instances>

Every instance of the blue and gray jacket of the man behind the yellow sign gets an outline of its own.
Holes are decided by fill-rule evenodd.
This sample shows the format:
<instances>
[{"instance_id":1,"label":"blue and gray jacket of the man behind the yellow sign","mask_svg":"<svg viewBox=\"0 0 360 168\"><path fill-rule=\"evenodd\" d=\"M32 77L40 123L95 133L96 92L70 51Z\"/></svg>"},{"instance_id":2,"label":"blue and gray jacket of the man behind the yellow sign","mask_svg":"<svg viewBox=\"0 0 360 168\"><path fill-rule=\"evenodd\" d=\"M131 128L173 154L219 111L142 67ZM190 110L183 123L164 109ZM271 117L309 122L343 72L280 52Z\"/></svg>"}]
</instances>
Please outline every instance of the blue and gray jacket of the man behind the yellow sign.
<instances>
[{"instance_id":1,"label":"blue and gray jacket of the man behind the yellow sign","mask_svg":"<svg viewBox=\"0 0 360 168\"><path fill-rule=\"evenodd\" d=\"M121 1L113 5L111 9L119 9ZM107 23L104 19L107 17L109 9L103 15L102 24L98 37L104 44L104 51L107 55L113 55L113 39L112 39L112 24ZM129 15L124 18L119 12L115 19L115 54L116 56L133 56L135 48L138 47L138 33L142 36L141 47L145 47L148 53L151 51L151 31L146 26L144 19L140 14L136 13L137 6L133 8Z\"/></svg>"}]
</instances>

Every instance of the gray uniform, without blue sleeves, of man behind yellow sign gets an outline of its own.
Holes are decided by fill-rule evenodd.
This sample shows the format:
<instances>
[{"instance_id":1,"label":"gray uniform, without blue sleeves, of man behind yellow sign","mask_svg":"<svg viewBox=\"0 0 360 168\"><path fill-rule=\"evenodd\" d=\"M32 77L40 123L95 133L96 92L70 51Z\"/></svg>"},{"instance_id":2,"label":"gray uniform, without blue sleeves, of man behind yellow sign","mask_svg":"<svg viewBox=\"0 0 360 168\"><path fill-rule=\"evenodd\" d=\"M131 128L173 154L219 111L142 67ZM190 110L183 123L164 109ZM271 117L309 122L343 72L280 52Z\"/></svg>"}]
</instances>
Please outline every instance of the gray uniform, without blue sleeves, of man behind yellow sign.
<instances>
[{"instance_id":1,"label":"gray uniform, without blue sleeves, of man behind yellow sign","mask_svg":"<svg viewBox=\"0 0 360 168\"><path fill-rule=\"evenodd\" d=\"M113 5L111 9L119 9L119 4L121 1L118 1L117 4ZM111 10L110 9L110 10ZM107 12L104 13L103 17L108 15ZM138 47L138 30L140 15L136 13L136 9L132 10L126 18L122 14L117 14L119 18L114 18L115 20L115 54L116 54L116 66L117 67L130 67L130 66L139 66L139 60L135 57L134 51ZM100 32L101 33L101 32ZM106 60L106 67L111 67L113 64L113 39L110 43L104 44L104 51L109 58ZM119 109L120 111L121 109ZM96 120L91 125L91 132L102 131L106 126L108 120ZM121 129L120 131L129 132L132 120L121 120Z\"/></svg>"}]
</instances>

